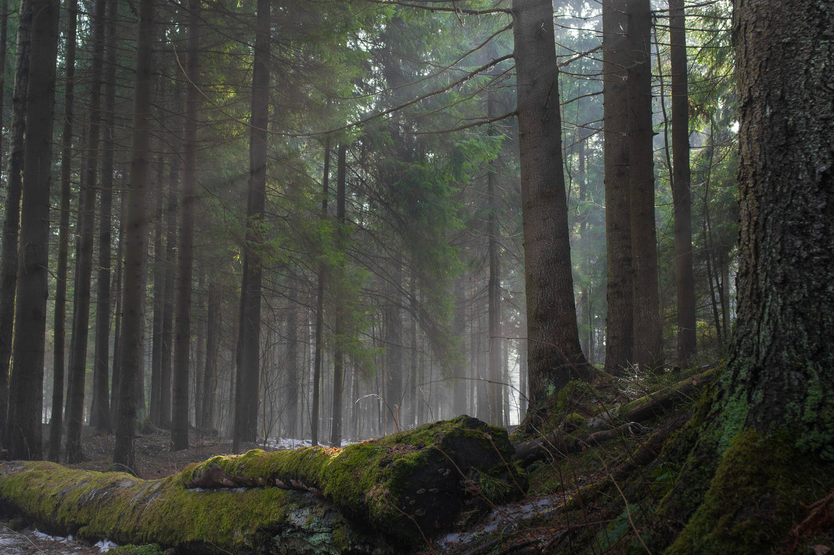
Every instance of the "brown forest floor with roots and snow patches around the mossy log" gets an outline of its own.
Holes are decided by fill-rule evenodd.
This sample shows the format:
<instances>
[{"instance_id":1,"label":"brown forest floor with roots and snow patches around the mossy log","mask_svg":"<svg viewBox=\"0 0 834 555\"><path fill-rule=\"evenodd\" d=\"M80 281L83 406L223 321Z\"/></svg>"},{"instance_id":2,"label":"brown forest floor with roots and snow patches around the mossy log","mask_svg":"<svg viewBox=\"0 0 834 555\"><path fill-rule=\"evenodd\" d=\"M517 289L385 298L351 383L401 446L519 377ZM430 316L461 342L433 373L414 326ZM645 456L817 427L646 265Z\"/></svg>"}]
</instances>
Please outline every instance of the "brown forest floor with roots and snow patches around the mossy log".
<instances>
[{"instance_id":1,"label":"brown forest floor with roots and snow patches around the mossy log","mask_svg":"<svg viewBox=\"0 0 834 555\"><path fill-rule=\"evenodd\" d=\"M549 444L545 455L529 464L526 470L530 486L525 497L510 505L493 507L489 514L478 519L460 522L455 532L436 538L422 547L420 553L629 551L628 546L633 548L635 538L639 539L641 535L636 527L637 515L632 515L632 511L641 509L623 501L626 497L635 499L647 494L656 497L671 487L675 472L657 457L664 438L689 419L701 394L701 386L696 386L671 408L664 408L658 416L644 420L649 433L620 434L599 442L587 441L587 434L619 424L622 416L616 415L621 409L640 402L636 400L660 396L660 391L671 391L686 380L697 381L698 376L699 372L695 371L683 376L670 373L649 381L601 381L593 386L571 382L572 386L553 399L550 421L539 425L540 436L544 436L544 431L560 430L570 441ZM135 443L138 477L166 477L182 471L192 462L232 452L231 441L224 439L192 435L190 448L178 452L171 451L169 440L166 431L138 434ZM284 441L271 446L259 443L242 448L272 451L304 445L298 441ZM69 466L106 471L111 468L113 447L112 434L97 434L93 429L85 428L85 461ZM106 543L93 546L50 537L23 527L22 522L0 520L0 553L3 554L97 555L108 547Z\"/></svg>"}]
</instances>

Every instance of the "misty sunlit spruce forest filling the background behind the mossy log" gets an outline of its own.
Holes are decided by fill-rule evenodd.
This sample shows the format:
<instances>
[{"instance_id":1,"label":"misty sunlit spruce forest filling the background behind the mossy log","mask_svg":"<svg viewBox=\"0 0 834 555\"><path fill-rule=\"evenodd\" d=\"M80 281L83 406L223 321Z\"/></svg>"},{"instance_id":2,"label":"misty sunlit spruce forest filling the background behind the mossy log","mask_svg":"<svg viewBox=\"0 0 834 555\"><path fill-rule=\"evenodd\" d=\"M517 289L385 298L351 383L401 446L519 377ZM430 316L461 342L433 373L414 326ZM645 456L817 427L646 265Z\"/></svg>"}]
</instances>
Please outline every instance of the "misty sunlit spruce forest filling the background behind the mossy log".
<instances>
[{"instance_id":1,"label":"misty sunlit spruce forest filling the background behind the mossy log","mask_svg":"<svg viewBox=\"0 0 834 555\"><path fill-rule=\"evenodd\" d=\"M553 60L540 4L4 0L3 447L514 426L554 361L719 358L729 3L556 3Z\"/></svg>"}]
</instances>

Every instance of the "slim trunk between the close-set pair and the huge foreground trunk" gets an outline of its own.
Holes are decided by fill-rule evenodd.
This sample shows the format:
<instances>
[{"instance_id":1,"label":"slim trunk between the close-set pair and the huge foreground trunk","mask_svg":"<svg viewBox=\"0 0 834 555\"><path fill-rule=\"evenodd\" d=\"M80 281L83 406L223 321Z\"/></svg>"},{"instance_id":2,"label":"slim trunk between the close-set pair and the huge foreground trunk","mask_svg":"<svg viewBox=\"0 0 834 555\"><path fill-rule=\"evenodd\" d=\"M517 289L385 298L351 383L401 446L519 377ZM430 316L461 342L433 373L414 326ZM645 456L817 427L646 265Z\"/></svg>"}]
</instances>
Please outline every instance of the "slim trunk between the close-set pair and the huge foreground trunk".
<instances>
[{"instance_id":1,"label":"slim trunk between the close-set pair and the huge foreground trunk","mask_svg":"<svg viewBox=\"0 0 834 555\"><path fill-rule=\"evenodd\" d=\"M677 360L682 365L686 364L686 361L696 353L695 275L692 270L692 199L689 167L689 93L686 68L686 15L683 0L670 0L669 12Z\"/></svg>"}]
</instances>

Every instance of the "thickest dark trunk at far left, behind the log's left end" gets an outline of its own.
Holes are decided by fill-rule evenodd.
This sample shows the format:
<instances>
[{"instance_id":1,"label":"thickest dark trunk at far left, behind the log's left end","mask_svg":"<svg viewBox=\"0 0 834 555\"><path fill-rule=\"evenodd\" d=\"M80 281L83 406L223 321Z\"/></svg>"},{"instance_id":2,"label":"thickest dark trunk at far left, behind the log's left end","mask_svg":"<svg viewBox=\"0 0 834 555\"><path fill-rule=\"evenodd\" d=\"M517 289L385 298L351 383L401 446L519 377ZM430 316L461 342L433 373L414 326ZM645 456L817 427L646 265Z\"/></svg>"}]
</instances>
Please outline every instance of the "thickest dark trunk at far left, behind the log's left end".
<instances>
[{"instance_id":1,"label":"thickest dark trunk at far left, behind the log's left end","mask_svg":"<svg viewBox=\"0 0 834 555\"><path fill-rule=\"evenodd\" d=\"M15 340L9 378L7 441L15 458L42 457L43 355L49 260L49 184L58 58L55 0L33 0L28 84L20 261L15 296Z\"/></svg>"}]
</instances>

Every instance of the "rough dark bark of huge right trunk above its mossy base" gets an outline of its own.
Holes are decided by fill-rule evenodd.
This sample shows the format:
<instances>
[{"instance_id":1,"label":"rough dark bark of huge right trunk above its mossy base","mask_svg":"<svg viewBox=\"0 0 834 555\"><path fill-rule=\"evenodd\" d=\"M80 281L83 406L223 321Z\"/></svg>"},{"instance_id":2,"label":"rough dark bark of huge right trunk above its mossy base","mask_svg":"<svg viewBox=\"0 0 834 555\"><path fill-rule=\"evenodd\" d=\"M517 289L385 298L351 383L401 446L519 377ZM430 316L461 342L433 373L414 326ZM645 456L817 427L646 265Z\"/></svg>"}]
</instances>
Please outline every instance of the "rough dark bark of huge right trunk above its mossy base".
<instances>
[{"instance_id":1,"label":"rough dark bark of huge right trunk above its mossy base","mask_svg":"<svg viewBox=\"0 0 834 555\"><path fill-rule=\"evenodd\" d=\"M834 458L834 7L736 1L738 320L725 395ZM823 70L823 68L826 68Z\"/></svg>"}]
</instances>

